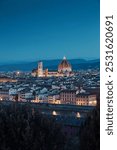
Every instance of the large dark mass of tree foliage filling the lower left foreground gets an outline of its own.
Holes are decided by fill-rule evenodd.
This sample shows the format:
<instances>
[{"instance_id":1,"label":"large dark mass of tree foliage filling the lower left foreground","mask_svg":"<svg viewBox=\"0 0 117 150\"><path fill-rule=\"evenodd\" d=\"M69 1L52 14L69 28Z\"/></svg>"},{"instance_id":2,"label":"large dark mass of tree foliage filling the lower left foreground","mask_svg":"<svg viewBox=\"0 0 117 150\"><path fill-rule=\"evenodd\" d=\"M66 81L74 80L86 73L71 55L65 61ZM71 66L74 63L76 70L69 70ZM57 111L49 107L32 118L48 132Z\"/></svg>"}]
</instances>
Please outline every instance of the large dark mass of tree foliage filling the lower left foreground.
<instances>
[{"instance_id":1,"label":"large dark mass of tree foliage filling the lower left foreground","mask_svg":"<svg viewBox=\"0 0 117 150\"><path fill-rule=\"evenodd\" d=\"M63 150L64 142L60 126L30 106L0 107L0 150Z\"/></svg>"}]
</instances>

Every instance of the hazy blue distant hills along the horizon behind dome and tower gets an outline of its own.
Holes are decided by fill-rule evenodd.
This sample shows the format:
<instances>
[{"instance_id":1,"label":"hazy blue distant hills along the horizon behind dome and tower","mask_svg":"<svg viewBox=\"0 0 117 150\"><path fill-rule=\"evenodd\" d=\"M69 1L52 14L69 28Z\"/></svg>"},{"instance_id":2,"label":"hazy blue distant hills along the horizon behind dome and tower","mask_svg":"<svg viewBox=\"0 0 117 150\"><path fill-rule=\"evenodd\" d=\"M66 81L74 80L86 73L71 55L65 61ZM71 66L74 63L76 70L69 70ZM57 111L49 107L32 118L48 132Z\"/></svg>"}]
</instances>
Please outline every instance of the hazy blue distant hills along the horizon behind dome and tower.
<instances>
[{"instance_id":1,"label":"hazy blue distant hills along the horizon behind dome and tower","mask_svg":"<svg viewBox=\"0 0 117 150\"><path fill-rule=\"evenodd\" d=\"M68 60L74 70L79 69L88 69L88 68L99 68L100 67L100 60L85 60L85 59L70 59ZM49 70L57 70L59 63L61 62L60 59L55 60L42 60L44 69L48 68ZM34 68L37 68L38 61L24 63L24 64L9 64L9 65L0 65L0 71L31 71Z\"/></svg>"}]
</instances>

